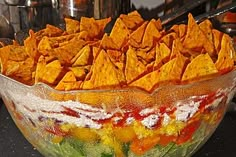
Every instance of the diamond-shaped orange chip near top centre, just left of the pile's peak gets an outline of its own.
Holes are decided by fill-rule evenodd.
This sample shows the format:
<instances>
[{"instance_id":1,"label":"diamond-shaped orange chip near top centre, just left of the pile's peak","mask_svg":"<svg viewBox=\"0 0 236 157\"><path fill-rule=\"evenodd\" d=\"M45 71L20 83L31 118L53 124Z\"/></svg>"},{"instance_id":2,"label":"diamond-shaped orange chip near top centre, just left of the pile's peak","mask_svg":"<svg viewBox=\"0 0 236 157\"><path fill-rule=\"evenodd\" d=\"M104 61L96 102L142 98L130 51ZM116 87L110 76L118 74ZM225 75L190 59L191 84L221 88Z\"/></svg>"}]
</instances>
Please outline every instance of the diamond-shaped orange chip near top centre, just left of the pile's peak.
<instances>
[{"instance_id":1,"label":"diamond-shaped orange chip near top centre, just left of the pile's peak","mask_svg":"<svg viewBox=\"0 0 236 157\"><path fill-rule=\"evenodd\" d=\"M118 18L112 28L110 37L116 43L119 49L121 49L125 43L127 43L129 35L130 32L128 28L125 26L124 22Z\"/></svg>"}]
</instances>

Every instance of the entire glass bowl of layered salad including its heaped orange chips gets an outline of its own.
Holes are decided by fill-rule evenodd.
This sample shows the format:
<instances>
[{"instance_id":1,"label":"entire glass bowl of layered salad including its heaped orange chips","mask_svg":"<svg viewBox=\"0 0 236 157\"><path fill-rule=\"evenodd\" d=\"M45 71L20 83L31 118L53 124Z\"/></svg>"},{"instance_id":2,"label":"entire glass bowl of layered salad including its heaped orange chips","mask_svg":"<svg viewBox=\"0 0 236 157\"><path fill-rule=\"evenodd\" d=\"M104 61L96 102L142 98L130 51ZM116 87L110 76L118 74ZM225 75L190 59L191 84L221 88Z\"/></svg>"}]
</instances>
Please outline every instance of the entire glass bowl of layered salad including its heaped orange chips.
<instances>
[{"instance_id":1,"label":"entire glass bowl of layered salad including its heaped orange chips","mask_svg":"<svg viewBox=\"0 0 236 157\"><path fill-rule=\"evenodd\" d=\"M138 12L65 18L0 49L2 98L45 156L189 156L236 87L229 35L209 20L162 28ZM27 126L27 127L26 127Z\"/></svg>"}]
</instances>

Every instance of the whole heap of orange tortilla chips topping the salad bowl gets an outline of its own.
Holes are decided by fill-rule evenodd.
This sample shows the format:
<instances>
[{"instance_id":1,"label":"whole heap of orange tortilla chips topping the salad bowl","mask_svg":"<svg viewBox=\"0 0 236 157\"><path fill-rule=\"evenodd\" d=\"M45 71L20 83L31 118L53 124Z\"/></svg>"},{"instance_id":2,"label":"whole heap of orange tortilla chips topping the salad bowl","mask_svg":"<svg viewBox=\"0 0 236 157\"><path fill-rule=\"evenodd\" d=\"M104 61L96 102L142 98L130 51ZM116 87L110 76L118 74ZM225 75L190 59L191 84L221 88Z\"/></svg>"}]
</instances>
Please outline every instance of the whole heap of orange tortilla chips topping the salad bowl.
<instances>
[{"instance_id":1,"label":"whole heap of orange tortilla chips topping the salad bowl","mask_svg":"<svg viewBox=\"0 0 236 157\"><path fill-rule=\"evenodd\" d=\"M43 82L57 90L136 87L152 92L160 85L209 79L234 69L232 39L209 20L162 28L137 11L120 15L110 34L110 18L66 18L66 29L52 25L20 46L0 49L1 73L28 85Z\"/></svg>"}]
</instances>

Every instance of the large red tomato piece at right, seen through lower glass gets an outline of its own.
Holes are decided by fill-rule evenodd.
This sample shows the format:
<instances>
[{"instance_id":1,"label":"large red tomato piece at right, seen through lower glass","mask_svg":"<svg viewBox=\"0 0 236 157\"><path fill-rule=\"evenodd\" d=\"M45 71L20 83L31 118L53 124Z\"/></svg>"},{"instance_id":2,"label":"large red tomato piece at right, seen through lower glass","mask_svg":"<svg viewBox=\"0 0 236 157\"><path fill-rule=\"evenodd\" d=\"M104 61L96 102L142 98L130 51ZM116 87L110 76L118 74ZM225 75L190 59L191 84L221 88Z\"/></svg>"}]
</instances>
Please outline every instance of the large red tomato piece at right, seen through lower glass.
<instances>
[{"instance_id":1,"label":"large red tomato piece at right, seen through lower glass","mask_svg":"<svg viewBox=\"0 0 236 157\"><path fill-rule=\"evenodd\" d=\"M200 121L193 121L190 124L188 124L183 130L181 130L177 140L176 144L182 144L188 140L190 140L194 134L194 132L199 128Z\"/></svg>"}]
</instances>

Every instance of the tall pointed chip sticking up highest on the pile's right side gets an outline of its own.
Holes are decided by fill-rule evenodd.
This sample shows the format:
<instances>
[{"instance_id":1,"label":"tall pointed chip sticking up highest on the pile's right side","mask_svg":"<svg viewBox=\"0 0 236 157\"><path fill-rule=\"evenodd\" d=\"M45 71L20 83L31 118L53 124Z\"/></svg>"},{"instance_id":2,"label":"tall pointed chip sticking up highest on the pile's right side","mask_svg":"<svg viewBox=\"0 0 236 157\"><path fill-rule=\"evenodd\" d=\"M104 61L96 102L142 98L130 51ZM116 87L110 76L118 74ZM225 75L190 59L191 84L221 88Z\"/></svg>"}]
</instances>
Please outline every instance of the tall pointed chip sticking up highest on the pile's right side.
<instances>
[{"instance_id":1,"label":"tall pointed chip sticking up highest on the pile's right side","mask_svg":"<svg viewBox=\"0 0 236 157\"><path fill-rule=\"evenodd\" d=\"M200 26L197 25L191 14L188 15L188 28L186 37L183 41L183 46L187 49L199 51L199 54L202 48L204 48L210 56L214 55L215 50L213 44L208 40L207 36L200 29Z\"/></svg>"}]
</instances>

